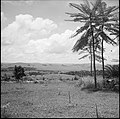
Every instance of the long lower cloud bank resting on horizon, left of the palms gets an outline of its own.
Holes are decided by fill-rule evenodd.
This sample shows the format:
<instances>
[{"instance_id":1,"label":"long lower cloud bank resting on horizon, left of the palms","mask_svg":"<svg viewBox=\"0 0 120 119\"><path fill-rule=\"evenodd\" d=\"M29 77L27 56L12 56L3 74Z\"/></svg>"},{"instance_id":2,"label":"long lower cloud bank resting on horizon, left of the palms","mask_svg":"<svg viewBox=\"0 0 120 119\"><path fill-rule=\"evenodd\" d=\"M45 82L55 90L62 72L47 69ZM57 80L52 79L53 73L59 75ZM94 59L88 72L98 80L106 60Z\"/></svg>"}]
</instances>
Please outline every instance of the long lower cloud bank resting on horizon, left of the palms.
<instances>
[{"instance_id":1,"label":"long lower cloud bank resting on horizon, left of the palms","mask_svg":"<svg viewBox=\"0 0 120 119\"><path fill-rule=\"evenodd\" d=\"M72 33L73 31L66 30L64 33L53 34L48 38L29 40L24 45L2 46L2 61L14 62L21 60L23 62L52 63L70 61L71 54L74 56L71 49L75 41L69 39Z\"/></svg>"}]
</instances>

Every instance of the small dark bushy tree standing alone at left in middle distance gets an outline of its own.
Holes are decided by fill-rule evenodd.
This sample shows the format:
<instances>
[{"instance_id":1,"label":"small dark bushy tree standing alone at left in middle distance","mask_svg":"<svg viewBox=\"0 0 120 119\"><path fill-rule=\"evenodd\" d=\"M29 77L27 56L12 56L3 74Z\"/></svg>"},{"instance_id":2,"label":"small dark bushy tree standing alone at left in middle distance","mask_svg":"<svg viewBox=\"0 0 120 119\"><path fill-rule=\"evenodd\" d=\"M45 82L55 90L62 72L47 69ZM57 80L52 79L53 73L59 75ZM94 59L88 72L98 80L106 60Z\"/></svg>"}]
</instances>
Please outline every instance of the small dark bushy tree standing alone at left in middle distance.
<instances>
[{"instance_id":1,"label":"small dark bushy tree standing alone at left in middle distance","mask_svg":"<svg viewBox=\"0 0 120 119\"><path fill-rule=\"evenodd\" d=\"M23 76L26 76L25 73L24 73L24 68L21 67L21 66L16 66L15 65L15 68L14 68L14 76L15 76L15 79L17 82L19 82L20 80L22 80L22 77Z\"/></svg>"}]
</instances>

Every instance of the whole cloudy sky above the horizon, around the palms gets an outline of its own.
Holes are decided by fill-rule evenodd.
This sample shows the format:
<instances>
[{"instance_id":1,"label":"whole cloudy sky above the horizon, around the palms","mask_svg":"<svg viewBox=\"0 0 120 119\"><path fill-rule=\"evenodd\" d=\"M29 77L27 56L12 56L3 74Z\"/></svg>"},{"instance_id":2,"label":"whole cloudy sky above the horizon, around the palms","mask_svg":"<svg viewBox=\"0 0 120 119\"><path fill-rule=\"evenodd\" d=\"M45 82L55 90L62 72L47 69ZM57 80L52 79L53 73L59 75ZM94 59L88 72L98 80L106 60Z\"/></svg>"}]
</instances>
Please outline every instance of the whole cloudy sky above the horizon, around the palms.
<instances>
[{"instance_id":1,"label":"whole cloudy sky above the horizon, around the palms","mask_svg":"<svg viewBox=\"0 0 120 119\"><path fill-rule=\"evenodd\" d=\"M108 6L119 5L119 0L105 2ZM69 3L84 0L2 0L1 62L89 63L88 57L79 60L82 55L72 51L80 36L69 37L84 24L65 21L70 19L65 12L78 12ZM105 63L115 63L119 59L119 46L106 43L104 46Z\"/></svg>"}]
</instances>

